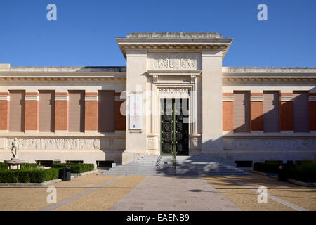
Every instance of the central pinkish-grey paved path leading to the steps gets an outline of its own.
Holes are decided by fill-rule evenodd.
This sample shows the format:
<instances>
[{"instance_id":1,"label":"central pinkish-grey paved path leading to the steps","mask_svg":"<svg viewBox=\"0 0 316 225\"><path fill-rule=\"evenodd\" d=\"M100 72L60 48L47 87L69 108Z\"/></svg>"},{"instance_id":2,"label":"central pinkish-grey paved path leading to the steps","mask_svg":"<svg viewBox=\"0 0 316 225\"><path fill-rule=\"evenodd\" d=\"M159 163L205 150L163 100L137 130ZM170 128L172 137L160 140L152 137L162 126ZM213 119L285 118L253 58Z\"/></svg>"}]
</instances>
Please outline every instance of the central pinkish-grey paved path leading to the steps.
<instances>
[{"instance_id":1,"label":"central pinkish-grey paved path leading to the steps","mask_svg":"<svg viewBox=\"0 0 316 225\"><path fill-rule=\"evenodd\" d=\"M241 210L198 176L147 176L110 210Z\"/></svg>"}]
</instances>

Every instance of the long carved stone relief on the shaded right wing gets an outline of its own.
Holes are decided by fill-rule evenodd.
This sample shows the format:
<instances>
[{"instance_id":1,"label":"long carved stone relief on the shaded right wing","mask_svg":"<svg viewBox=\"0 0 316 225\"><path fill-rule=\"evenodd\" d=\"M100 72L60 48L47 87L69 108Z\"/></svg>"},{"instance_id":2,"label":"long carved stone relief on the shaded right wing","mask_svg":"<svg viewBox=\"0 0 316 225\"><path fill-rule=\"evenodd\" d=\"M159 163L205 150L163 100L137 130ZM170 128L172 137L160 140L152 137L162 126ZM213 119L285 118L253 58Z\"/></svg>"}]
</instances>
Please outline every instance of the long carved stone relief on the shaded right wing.
<instances>
[{"instance_id":1,"label":"long carved stone relief on the shaded right wing","mask_svg":"<svg viewBox=\"0 0 316 225\"><path fill-rule=\"evenodd\" d=\"M233 150L316 150L315 139L235 139Z\"/></svg>"}]
</instances>

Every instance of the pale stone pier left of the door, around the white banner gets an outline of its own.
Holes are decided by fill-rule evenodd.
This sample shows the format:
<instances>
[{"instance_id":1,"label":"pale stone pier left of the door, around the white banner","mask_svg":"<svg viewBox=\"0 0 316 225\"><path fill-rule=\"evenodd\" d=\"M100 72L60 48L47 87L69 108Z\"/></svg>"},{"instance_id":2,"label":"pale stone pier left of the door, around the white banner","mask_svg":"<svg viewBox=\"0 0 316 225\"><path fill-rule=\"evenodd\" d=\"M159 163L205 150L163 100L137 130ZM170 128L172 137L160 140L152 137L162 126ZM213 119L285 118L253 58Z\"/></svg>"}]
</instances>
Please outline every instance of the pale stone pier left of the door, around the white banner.
<instances>
[{"instance_id":1,"label":"pale stone pier left of the door, around the white banner","mask_svg":"<svg viewBox=\"0 0 316 225\"><path fill-rule=\"evenodd\" d=\"M126 164L147 154L146 136L146 109L145 91L147 84L147 52L128 51L126 53L126 150L122 156L122 163ZM140 93L143 96L142 129L129 129L129 98L131 93Z\"/></svg>"}]
</instances>

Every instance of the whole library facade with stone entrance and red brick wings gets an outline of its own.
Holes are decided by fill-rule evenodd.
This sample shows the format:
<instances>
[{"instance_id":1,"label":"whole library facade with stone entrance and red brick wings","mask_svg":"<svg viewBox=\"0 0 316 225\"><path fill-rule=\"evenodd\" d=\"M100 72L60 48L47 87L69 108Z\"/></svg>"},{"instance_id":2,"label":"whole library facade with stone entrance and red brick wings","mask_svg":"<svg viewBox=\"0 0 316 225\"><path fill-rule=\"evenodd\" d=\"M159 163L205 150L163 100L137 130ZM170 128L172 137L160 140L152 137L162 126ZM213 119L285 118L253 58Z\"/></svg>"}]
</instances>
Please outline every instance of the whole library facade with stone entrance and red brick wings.
<instances>
[{"instance_id":1,"label":"whole library facade with stone entrance and red brick wings","mask_svg":"<svg viewBox=\"0 0 316 225\"><path fill-rule=\"evenodd\" d=\"M206 155L225 162L316 158L316 68L223 67L233 39L133 32L126 66L0 64L0 161Z\"/></svg>"}]
</instances>

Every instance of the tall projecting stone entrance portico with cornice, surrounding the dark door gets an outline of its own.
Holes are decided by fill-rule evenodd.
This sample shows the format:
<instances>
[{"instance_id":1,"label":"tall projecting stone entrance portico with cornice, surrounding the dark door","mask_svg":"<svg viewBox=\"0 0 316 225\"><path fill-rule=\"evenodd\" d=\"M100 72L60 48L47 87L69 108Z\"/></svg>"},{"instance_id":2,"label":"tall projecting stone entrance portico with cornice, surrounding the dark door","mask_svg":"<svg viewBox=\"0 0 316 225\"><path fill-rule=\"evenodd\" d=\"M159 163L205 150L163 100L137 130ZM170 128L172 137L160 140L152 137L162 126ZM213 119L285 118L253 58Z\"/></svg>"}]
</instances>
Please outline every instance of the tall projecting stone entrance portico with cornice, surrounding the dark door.
<instances>
[{"instance_id":1,"label":"tall projecting stone entrance portico with cornice, surrounding the dark door","mask_svg":"<svg viewBox=\"0 0 316 225\"><path fill-rule=\"evenodd\" d=\"M127 105L130 93L143 98L143 126L126 126L123 164L160 155L160 98L189 98L189 155L223 150L222 60L232 39L217 33L131 33L116 40L127 62ZM128 124L129 107L126 115Z\"/></svg>"}]
</instances>

